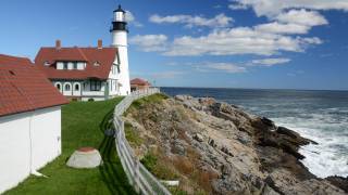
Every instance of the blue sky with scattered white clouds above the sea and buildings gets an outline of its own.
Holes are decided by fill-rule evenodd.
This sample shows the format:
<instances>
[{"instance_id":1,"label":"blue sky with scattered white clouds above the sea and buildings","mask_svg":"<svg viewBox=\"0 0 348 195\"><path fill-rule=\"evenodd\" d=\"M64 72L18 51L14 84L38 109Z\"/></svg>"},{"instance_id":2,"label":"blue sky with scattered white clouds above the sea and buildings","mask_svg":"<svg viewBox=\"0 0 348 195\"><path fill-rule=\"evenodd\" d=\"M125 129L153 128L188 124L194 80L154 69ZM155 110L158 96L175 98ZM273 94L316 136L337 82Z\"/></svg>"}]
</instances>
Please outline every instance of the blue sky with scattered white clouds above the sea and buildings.
<instances>
[{"instance_id":1,"label":"blue sky with scattered white clouds above the sea and buildings","mask_svg":"<svg viewBox=\"0 0 348 195\"><path fill-rule=\"evenodd\" d=\"M348 0L1 0L0 53L111 44L127 11L130 77L156 86L348 90Z\"/></svg>"}]
</instances>

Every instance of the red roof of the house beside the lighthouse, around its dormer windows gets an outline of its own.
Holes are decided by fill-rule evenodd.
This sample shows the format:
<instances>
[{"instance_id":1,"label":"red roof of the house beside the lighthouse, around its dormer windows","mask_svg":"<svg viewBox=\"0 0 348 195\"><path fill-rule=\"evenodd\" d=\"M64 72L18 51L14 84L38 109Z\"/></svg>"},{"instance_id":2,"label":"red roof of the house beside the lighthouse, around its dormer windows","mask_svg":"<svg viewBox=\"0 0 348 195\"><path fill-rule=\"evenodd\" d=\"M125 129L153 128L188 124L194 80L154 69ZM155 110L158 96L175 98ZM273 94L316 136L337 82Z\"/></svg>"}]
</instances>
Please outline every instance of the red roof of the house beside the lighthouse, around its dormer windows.
<instances>
[{"instance_id":1,"label":"red roof of the house beside the lighthouse, around its dormer windows","mask_svg":"<svg viewBox=\"0 0 348 195\"><path fill-rule=\"evenodd\" d=\"M35 58L35 64L44 70L50 79L87 79L109 78L111 66L117 54L116 48L41 48ZM55 69L58 61L86 62L86 69ZM49 62L50 66L45 66ZM98 63L99 66L95 66Z\"/></svg>"}]
</instances>

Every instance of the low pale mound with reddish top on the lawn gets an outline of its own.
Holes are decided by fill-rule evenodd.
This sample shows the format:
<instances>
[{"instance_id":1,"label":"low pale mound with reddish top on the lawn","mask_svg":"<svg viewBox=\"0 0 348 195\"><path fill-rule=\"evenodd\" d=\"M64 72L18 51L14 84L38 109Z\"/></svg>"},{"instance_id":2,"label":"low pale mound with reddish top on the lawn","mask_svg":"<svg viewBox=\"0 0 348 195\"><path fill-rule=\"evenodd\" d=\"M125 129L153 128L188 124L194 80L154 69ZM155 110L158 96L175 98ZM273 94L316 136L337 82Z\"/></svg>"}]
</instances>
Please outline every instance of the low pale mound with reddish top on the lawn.
<instances>
[{"instance_id":1,"label":"low pale mound with reddish top on the lawn","mask_svg":"<svg viewBox=\"0 0 348 195\"><path fill-rule=\"evenodd\" d=\"M82 147L75 151L69 158L66 165L72 168L96 168L102 164L98 150L94 147Z\"/></svg>"}]
</instances>

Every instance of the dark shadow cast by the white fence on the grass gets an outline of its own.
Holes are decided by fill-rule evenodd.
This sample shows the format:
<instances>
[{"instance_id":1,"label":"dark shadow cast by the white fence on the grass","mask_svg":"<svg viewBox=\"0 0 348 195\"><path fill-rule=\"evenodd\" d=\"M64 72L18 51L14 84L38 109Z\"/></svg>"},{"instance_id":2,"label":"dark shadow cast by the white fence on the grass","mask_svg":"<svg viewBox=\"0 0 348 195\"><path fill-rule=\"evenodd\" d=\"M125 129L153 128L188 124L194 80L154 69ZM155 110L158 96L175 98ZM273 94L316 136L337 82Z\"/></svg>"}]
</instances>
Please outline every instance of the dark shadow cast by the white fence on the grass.
<instances>
[{"instance_id":1,"label":"dark shadow cast by the white fence on the grass","mask_svg":"<svg viewBox=\"0 0 348 195\"><path fill-rule=\"evenodd\" d=\"M105 115L100 123L99 128L103 134L107 129L114 129L112 117L113 109ZM104 135L99 146L99 151L103 160L103 165L99 167L99 171L110 194L136 194L133 186L129 185L126 173L122 168L115 147L114 136Z\"/></svg>"}]
</instances>

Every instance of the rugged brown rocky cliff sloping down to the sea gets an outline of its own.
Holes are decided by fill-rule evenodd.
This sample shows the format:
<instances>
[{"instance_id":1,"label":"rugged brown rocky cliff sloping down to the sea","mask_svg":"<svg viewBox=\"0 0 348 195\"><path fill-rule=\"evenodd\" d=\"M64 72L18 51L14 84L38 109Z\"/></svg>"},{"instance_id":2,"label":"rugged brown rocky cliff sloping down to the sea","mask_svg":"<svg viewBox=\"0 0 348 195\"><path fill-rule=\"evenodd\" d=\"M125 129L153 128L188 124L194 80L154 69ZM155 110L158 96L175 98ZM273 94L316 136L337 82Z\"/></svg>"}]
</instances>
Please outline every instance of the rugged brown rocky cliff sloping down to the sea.
<instances>
[{"instance_id":1,"label":"rugged brown rocky cliff sloping down to the sea","mask_svg":"<svg viewBox=\"0 0 348 195\"><path fill-rule=\"evenodd\" d=\"M299 147L314 142L235 105L154 95L136 102L125 120L127 139L150 171L181 181L174 193L347 193L347 179L318 179L299 161Z\"/></svg>"}]
</instances>

